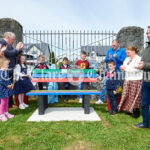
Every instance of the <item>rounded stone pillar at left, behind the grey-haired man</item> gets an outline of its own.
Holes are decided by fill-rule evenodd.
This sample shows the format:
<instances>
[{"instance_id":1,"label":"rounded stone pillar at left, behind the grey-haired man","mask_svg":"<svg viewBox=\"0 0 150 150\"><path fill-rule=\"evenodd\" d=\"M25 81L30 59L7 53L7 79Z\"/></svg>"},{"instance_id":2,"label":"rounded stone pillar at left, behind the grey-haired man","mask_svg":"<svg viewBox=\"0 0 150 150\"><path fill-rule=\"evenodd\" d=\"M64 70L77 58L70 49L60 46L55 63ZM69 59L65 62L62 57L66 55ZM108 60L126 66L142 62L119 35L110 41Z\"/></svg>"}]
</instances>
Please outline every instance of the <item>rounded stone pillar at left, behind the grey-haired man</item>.
<instances>
[{"instance_id":1,"label":"rounded stone pillar at left, behind the grey-haired man","mask_svg":"<svg viewBox=\"0 0 150 150\"><path fill-rule=\"evenodd\" d=\"M15 33L16 35L15 44L22 41L22 34L23 34L22 25L18 21L11 18L0 19L0 38L2 38L3 34L8 31Z\"/></svg>"}]
</instances>

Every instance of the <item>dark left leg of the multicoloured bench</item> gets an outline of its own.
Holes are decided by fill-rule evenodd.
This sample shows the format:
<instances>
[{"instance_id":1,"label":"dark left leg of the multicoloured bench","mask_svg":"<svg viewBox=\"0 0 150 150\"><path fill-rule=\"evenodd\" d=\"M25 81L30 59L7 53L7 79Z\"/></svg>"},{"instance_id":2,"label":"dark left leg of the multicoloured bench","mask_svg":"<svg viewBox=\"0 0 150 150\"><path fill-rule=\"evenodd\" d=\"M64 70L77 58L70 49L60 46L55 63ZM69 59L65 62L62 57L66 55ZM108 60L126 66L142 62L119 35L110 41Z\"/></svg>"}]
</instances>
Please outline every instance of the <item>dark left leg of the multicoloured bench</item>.
<instances>
[{"instance_id":1,"label":"dark left leg of the multicoloured bench","mask_svg":"<svg viewBox=\"0 0 150 150\"><path fill-rule=\"evenodd\" d=\"M39 106L39 115L44 115L45 113L45 104L44 104L44 96L38 96L38 106Z\"/></svg>"}]
</instances>

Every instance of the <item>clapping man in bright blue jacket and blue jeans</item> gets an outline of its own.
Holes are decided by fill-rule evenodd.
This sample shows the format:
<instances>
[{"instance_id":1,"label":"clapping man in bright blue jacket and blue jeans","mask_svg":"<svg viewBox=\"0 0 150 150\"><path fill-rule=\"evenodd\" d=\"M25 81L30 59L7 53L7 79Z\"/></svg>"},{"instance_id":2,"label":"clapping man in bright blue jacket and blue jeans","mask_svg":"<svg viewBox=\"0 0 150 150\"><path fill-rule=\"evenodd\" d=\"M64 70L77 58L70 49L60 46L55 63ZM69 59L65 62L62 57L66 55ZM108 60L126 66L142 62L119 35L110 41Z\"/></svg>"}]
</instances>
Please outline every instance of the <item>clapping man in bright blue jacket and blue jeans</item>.
<instances>
[{"instance_id":1,"label":"clapping man in bright blue jacket and blue jeans","mask_svg":"<svg viewBox=\"0 0 150 150\"><path fill-rule=\"evenodd\" d=\"M108 62L110 60L114 60L116 64L116 71L120 73L121 77L121 72L120 72L120 66L123 64L124 60L126 58L126 51L123 48L119 47L119 43L117 40L112 41L112 48L107 51L107 55L105 58L105 62L108 66ZM108 67L107 67L108 70ZM106 93L106 81L107 77L104 78L104 84L102 87L102 93L98 101L95 102L95 104L103 104L105 100L105 93Z\"/></svg>"}]
</instances>

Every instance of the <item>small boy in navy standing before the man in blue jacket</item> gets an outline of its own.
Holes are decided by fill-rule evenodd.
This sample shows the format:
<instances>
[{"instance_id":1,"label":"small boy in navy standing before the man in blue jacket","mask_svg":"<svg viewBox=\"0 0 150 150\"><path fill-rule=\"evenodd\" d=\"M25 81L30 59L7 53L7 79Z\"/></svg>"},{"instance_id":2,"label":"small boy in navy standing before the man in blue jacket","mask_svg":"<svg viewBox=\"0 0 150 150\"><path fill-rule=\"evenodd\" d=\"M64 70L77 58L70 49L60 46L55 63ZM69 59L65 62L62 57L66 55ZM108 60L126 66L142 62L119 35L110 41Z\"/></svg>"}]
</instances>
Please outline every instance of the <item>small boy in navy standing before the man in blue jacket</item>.
<instances>
[{"instance_id":1,"label":"small boy in navy standing before the man in blue jacket","mask_svg":"<svg viewBox=\"0 0 150 150\"><path fill-rule=\"evenodd\" d=\"M120 80L118 79L118 74L115 71L116 63L113 60L108 62L109 72L107 72L106 89L110 102L111 109L109 110L110 115L115 115L117 113L117 99L116 94L120 86Z\"/></svg>"}]
</instances>

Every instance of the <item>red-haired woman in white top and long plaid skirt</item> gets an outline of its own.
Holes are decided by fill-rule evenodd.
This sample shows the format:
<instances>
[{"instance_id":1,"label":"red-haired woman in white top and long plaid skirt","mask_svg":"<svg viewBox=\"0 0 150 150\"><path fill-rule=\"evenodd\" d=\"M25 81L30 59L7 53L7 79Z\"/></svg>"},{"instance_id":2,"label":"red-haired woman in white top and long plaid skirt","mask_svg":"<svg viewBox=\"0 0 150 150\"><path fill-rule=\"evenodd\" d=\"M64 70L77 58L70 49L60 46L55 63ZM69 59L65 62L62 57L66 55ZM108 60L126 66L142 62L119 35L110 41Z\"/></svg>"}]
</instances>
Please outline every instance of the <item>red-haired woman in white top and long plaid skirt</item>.
<instances>
[{"instance_id":1,"label":"red-haired woman in white top and long plaid skirt","mask_svg":"<svg viewBox=\"0 0 150 150\"><path fill-rule=\"evenodd\" d=\"M120 67L122 71L125 71L125 81L123 85L122 98L118 106L118 111L123 110L129 114L133 114L133 117L138 118L140 116L141 106L141 86L143 72L135 67L141 61L141 57L137 55L139 50L134 46L127 48L127 57Z\"/></svg>"}]
</instances>

